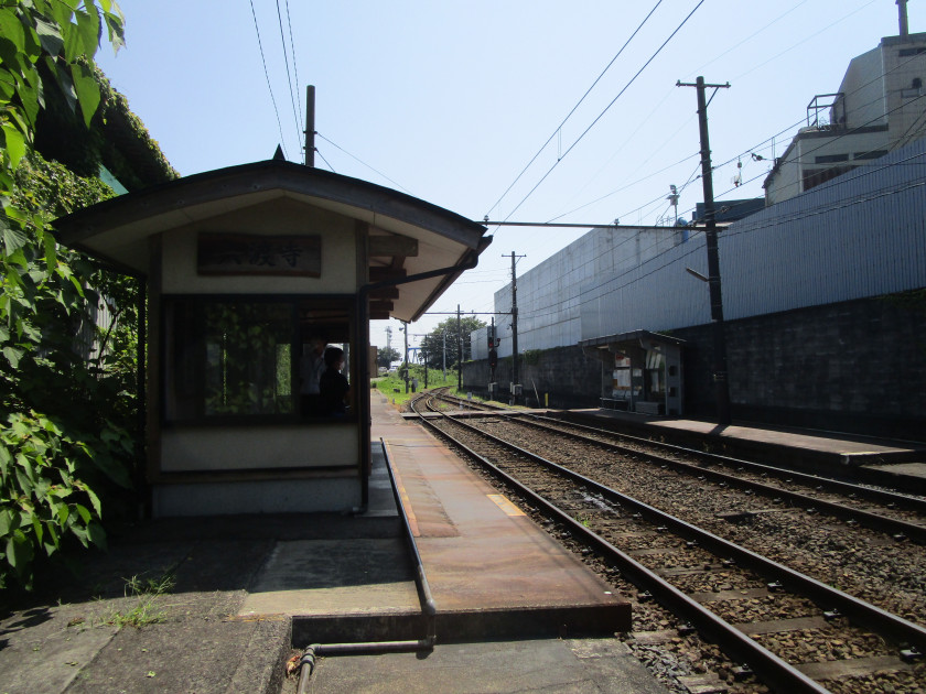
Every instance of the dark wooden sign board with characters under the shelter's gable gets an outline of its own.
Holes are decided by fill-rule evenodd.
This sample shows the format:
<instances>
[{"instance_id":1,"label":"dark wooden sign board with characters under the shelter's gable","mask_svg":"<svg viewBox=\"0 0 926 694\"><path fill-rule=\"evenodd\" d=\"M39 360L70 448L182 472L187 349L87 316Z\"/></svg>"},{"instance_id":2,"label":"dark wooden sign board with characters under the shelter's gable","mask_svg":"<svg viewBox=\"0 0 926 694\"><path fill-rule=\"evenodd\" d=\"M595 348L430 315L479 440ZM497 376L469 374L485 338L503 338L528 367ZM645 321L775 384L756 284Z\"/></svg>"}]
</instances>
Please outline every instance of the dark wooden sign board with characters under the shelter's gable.
<instances>
[{"instance_id":1,"label":"dark wooden sign board with characters under the shelter's gable","mask_svg":"<svg viewBox=\"0 0 926 694\"><path fill-rule=\"evenodd\" d=\"M320 236L201 234L196 248L200 274L273 274L322 276Z\"/></svg>"}]
</instances>

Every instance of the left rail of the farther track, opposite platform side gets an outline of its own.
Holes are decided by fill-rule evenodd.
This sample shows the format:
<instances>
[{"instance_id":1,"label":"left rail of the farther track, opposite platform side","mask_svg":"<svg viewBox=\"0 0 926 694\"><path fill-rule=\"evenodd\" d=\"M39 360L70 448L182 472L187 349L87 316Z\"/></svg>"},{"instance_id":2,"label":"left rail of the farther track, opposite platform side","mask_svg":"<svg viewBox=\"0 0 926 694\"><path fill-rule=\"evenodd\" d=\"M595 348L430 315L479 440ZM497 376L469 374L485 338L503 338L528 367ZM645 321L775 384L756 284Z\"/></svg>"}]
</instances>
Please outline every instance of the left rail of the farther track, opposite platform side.
<instances>
[{"instance_id":1,"label":"left rail of the farther track, opposite platform side","mask_svg":"<svg viewBox=\"0 0 926 694\"><path fill-rule=\"evenodd\" d=\"M605 441L599 441L596 438L591 438L589 436L584 436L582 434L577 434L573 432L564 432L562 430L557 430L546 424L541 424L538 422L526 421L520 418L510 418L508 421L517 422L524 424L526 426L534 426L541 429L546 432L556 433L560 436L569 436L577 438L579 441L600 446L603 448L607 448L609 451L633 455L636 457L644 457L648 459L650 463L669 466L676 470L685 473L687 475L699 476L704 478L711 478L717 481L721 481L723 484L730 485L732 487L736 487L740 489L753 489L761 491L763 495L773 497L773 498L782 498L787 499L788 501L800 505L804 508L815 508L815 509L822 509L829 512L837 518L842 518L847 520L859 521L864 525L872 528L874 530L883 531L886 533L892 534L902 534L905 538L909 538L919 543L926 543L926 525L914 523L911 521L905 521L902 519L890 518L887 516L882 516L880 513L875 513L874 511L866 511L864 509L857 509L849 506L844 506L839 503L838 501L828 501L827 499L818 499L817 497L811 497L806 494L801 494L799 491L790 491L788 489L782 489L780 487L775 487L772 485L766 485L760 481L754 481L750 479L743 479L742 477L736 477L736 475L732 473L723 473L720 470L714 470L707 467L701 467L699 465L694 465L691 463L685 463L683 460L672 460L671 458L664 458L659 455L653 453L646 453L643 451L635 451L633 448L627 448L620 444L609 443ZM687 449L686 449L687 452ZM745 468L747 465L757 465L757 464L750 464L747 460L736 460L735 458L726 458L726 463L724 466L732 466L734 464L739 464L741 468ZM769 469L768 466L761 466L763 474L769 474L767 470ZM782 473L787 473L786 470L780 470L780 468L771 468L774 470L778 470ZM756 470L753 470L756 471ZM776 475L777 477L777 475ZM804 484L811 485L818 484L818 486L825 486L820 478L814 477L811 475L800 475L800 474L786 474L783 475L786 479L800 479ZM803 477L803 479L801 479ZM846 482L837 482L842 487L850 487L852 490L861 489L859 487L854 487L852 485L847 485ZM835 490L835 488L833 488ZM924 508L924 512L926 512L926 508Z\"/></svg>"}]
</instances>

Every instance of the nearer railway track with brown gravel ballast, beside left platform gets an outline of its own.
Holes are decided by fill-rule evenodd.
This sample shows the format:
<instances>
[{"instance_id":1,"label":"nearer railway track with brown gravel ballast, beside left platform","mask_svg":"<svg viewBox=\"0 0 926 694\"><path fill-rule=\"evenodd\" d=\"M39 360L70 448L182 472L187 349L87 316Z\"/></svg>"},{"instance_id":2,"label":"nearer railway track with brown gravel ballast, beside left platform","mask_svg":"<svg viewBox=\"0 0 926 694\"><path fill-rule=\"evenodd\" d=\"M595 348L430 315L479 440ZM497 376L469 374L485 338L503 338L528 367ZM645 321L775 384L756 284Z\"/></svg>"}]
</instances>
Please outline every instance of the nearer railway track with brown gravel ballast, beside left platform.
<instances>
[{"instance_id":1,"label":"nearer railway track with brown gravel ballast, beside left platform","mask_svg":"<svg viewBox=\"0 0 926 694\"><path fill-rule=\"evenodd\" d=\"M635 650L668 642L678 652L679 644L697 638L686 621L722 646L732 661L703 642L689 647L699 655L678 665L688 671L680 681L689 691L762 691L737 662L747 662L776 691L922 691L926 668L918 653L926 650L926 629L920 625L580 474L582 456L574 449L567 457L577 469L568 469L483 431L499 429L497 422L481 430L443 415L429 424L550 519L541 521L549 530L567 543L581 543L577 549L586 559L592 552L601 557L590 561L600 563L612 583L629 579L636 586L615 586L636 596ZM586 467L602 467L599 443L582 444L597 451ZM549 438L539 445L556 457ZM652 463L648 467L652 476ZM691 478L687 481L690 488ZM653 616L657 606L650 598L671 614ZM697 672L704 661L714 663L713 679Z\"/></svg>"}]
</instances>

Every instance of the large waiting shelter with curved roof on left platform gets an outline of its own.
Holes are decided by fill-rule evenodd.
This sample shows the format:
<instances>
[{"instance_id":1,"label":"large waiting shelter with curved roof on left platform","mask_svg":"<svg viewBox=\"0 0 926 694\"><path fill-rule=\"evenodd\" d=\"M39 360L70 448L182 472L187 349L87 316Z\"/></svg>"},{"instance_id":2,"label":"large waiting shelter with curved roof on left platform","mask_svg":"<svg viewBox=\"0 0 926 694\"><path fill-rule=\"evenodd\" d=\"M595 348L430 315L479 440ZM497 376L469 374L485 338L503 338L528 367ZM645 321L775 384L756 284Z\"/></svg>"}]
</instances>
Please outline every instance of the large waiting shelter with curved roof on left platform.
<instances>
[{"instance_id":1,"label":"large waiting shelter with curved roof on left platform","mask_svg":"<svg viewBox=\"0 0 926 694\"><path fill-rule=\"evenodd\" d=\"M369 321L414 321L492 237L356 178L272 160L116 197L62 242L148 288L155 517L344 511L367 500ZM346 414L300 408L312 340L343 345Z\"/></svg>"}]
</instances>

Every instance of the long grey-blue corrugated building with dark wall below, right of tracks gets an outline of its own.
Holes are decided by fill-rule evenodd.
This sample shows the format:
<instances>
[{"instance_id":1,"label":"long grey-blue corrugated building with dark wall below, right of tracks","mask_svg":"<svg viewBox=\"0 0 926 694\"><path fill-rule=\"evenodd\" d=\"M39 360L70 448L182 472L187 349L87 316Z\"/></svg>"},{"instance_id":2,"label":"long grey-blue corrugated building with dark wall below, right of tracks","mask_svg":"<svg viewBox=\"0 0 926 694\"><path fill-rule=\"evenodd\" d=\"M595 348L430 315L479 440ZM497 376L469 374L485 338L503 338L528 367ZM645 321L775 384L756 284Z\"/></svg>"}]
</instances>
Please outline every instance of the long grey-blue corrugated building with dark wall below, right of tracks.
<instances>
[{"instance_id":1,"label":"long grey-blue corrugated building with dark wall below, right of tracks","mask_svg":"<svg viewBox=\"0 0 926 694\"><path fill-rule=\"evenodd\" d=\"M671 228L664 236L631 231L633 238L612 243L616 257L602 259L595 243L612 234L595 229L518 278L520 350L550 350L557 362L545 364L541 354L530 367L536 383L524 382L551 401L559 392L575 402L580 381L570 382L571 371L591 368L601 373L600 392L570 406L623 398L622 406L639 411L712 416L709 291L687 272L708 274L703 234L678 242ZM719 254L734 418L891 435L919 431L926 422L926 140L731 224L719 234ZM497 311L510 305L509 292L496 294ZM499 356L510 355L509 334L499 333ZM485 350L482 337L474 359ZM582 357L579 343L605 364ZM668 348L675 346L681 356L672 371ZM638 359L639 373L624 364L628 358ZM632 377L617 373L621 367ZM507 375L497 375L502 391ZM678 377L683 386L674 386ZM471 380L477 389L487 379L474 368Z\"/></svg>"}]
</instances>

